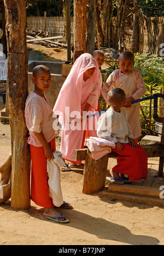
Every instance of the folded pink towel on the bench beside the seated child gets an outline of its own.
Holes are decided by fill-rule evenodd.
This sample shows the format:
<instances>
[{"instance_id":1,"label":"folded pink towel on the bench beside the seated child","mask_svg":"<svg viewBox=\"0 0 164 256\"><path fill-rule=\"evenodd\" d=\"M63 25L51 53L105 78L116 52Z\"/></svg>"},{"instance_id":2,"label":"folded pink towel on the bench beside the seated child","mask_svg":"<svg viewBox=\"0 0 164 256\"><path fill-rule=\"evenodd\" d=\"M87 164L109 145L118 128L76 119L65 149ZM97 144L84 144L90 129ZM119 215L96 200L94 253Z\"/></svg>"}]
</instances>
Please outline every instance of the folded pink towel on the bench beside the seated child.
<instances>
[{"instance_id":1,"label":"folded pink towel on the bench beside the seated child","mask_svg":"<svg viewBox=\"0 0 164 256\"><path fill-rule=\"evenodd\" d=\"M110 153L112 148L115 148L115 143L104 138L90 137L85 139L85 146L92 153L92 159L98 160L102 156Z\"/></svg>"}]
</instances>

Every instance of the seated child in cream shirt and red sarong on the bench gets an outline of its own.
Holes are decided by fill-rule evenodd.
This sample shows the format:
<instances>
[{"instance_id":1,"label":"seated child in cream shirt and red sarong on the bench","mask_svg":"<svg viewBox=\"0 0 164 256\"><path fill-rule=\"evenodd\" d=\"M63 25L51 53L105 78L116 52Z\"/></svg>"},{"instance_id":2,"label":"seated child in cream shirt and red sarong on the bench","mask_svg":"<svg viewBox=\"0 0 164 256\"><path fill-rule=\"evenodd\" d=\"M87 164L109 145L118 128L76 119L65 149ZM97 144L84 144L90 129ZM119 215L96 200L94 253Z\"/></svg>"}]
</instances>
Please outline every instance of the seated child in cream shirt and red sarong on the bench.
<instances>
[{"instance_id":1,"label":"seated child in cream shirt and red sarong on the bench","mask_svg":"<svg viewBox=\"0 0 164 256\"><path fill-rule=\"evenodd\" d=\"M98 120L97 136L115 143L118 154L118 164L110 170L112 178L108 180L116 184L124 184L121 174L129 176L131 181L146 179L148 173L148 157L144 149L133 139L127 121L127 110L122 108L127 100L124 90L115 88L108 92L108 102L111 104L106 113Z\"/></svg>"}]
</instances>

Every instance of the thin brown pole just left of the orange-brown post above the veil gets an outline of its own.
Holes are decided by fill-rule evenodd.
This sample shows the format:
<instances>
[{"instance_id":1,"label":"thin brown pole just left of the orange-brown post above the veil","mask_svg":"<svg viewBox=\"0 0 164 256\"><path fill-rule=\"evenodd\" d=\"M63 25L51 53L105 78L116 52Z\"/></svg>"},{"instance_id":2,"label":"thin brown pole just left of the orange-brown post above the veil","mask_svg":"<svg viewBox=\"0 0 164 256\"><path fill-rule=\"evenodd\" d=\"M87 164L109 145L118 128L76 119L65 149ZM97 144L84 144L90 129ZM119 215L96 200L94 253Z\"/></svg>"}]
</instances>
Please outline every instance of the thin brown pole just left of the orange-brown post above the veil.
<instances>
[{"instance_id":1,"label":"thin brown pole just left of the orange-brown post above the veil","mask_svg":"<svg viewBox=\"0 0 164 256\"><path fill-rule=\"evenodd\" d=\"M71 0L67 0L67 60L71 60Z\"/></svg>"}]
</instances>

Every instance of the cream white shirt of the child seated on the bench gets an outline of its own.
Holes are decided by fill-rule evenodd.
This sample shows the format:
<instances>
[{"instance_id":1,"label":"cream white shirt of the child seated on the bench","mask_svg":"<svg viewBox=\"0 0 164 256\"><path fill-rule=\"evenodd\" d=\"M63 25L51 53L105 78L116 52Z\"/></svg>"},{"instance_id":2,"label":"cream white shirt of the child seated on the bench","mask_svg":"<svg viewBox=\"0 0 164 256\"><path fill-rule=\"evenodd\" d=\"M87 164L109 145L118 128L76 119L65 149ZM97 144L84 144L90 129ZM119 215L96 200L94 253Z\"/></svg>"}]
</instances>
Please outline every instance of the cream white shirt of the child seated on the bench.
<instances>
[{"instance_id":1,"label":"cream white shirt of the child seated on the bench","mask_svg":"<svg viewBox=\"0 0 164 256\"><path fill-rule=\"evenodd\" d=\"M113 143L128 143L133 134L127 121L127 110L121 108L119 113L110 107L98 120L97 136Z\"/></svg>"}]
</instances>

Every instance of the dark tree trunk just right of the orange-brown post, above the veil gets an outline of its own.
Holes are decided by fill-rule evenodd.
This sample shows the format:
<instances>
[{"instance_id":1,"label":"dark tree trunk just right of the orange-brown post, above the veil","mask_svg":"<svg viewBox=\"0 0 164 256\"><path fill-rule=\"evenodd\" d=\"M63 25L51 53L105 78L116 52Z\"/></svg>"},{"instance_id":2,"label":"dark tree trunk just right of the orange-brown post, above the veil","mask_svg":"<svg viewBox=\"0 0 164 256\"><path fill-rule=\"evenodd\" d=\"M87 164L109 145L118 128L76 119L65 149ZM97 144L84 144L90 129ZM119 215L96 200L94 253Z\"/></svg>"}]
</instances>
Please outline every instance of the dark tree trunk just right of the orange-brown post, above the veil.
<instances>
[{"instance_id":1,"label":"dark tree trunk just right of the orange-brown post, above the veil","mask_svg":"<svg viewBox=\"0 0 164 256\"><path fill-rule=\"evenodd\" d=\"M92 54L95 50L96 0L89 0L89 17L87 25L86 52Z\"/></svg>"}]
</instances>

